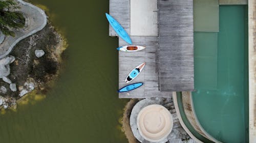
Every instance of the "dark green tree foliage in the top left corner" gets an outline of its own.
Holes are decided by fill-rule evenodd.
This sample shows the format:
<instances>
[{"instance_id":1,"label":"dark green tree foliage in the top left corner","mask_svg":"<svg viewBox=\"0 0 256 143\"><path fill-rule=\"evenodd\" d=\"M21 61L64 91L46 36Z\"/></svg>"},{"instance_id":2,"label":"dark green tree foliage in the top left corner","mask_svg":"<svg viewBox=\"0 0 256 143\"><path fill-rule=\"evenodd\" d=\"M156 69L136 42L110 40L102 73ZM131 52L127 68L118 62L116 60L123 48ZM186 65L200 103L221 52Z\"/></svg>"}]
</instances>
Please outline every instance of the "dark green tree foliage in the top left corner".
<instances>
[{"instance_id":1,"label":"dark green tree foliage in the top left corner","mask_svg":"<svg viewBox=\"0 0 256 143\"><path fill-rule=\"evenodd\" d=\"M6 36L15 36L14 29L25 25L25 17L15 11L19 9L13 0L0 0L0 31Z\"/></svg>"}]
</instances>

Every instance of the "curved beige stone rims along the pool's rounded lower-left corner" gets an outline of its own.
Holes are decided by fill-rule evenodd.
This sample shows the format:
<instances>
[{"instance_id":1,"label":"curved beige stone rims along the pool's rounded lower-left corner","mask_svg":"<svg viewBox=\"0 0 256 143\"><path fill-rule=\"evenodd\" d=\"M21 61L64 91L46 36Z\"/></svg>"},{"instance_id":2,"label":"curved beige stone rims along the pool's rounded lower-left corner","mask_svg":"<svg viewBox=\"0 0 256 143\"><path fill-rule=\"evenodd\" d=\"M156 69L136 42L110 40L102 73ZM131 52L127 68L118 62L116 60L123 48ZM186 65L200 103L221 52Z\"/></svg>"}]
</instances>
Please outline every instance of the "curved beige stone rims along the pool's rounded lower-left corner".
<instances>
[{"instance_id":1,"label":"curved beige stone rims along the pool's rounded lower-left corner","mask_svg":"<svg viewBox=\"0 0 256 143\"><path fill-rule=\"evenodd\" d=\"M187 96L187 97L184 98L184 96ZM182 99L185 99L185 100L182 100ZM181 126L189 134L189 136L191 138L195 139L197 142L203 142L203 141L205 142L205 140L206 140L207 142L222 143L221 141L217 140L216 138L214 138L210 134L208 134L203 129L201 124L199 123L196 113L195 113L193 99L191 98L191 92L182 92L181 100L182 101L178 101L177 93L173 92L173 101L174 101L175 109L177 111L177 116L179 118ZM183 102L183 101L185 101L185 102ZM181 102L180 103L181 104L180 106L182 106L181 110L180 110L181 107L179 106L179 102ZM184 108L184 106L185 106L185 108ZM190 113L189 113L189 109L190 109ZM183 112L183 117L181 115L181 112ZM187 120L187 122L189 122L187 124L190 124L190 127L188 127L188 125L186 125L184 123L185 122L184 120ZM192 133L192 132L194 132L194 133ZM197 133L197 135L195 135L196 133ZM198 134L201 136L199 136Z\"/></svg>"}]
</instances>

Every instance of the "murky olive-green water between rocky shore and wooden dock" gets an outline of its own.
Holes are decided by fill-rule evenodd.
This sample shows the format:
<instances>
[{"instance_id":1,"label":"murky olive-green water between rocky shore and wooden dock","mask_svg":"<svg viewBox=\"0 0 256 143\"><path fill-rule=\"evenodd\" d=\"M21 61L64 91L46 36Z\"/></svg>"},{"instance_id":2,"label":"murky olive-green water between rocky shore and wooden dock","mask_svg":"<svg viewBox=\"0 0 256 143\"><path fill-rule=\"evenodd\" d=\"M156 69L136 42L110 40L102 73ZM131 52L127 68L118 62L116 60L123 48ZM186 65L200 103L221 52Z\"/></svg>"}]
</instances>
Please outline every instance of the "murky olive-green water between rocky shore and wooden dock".
<instances>
[{"instance_id":1,"label":"murky olive-green water between rocky shore and wooden dock","mask_svg":"<svg viewBox=\"0 0 256 143\"><path fill-rule=\"evenodd\" d=\"M69 47L65 71L44 100L0 115L0 142L127 142L118 120L117 38L108 36L109 1L33 0L49 8Z\"/></svg>"}]
</instances>

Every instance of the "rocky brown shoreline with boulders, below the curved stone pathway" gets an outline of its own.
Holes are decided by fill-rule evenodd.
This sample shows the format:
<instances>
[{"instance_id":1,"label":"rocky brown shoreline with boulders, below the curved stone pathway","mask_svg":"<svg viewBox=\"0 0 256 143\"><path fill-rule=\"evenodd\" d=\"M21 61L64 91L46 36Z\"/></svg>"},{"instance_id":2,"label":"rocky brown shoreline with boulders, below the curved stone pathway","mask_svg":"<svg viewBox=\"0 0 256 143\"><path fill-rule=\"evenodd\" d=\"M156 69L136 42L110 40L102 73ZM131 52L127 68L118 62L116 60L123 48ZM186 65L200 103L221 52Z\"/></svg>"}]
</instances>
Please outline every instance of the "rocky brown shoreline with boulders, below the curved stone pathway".
<instances>
[{"instance_id":1,"label":"rocky brown shoreline with boulders, below the curved stone pathway","mask_svg":"<svg viewBox=\"0 0 256 143\"><path fill-rule=\"evenodd\" d=\"M48 24L17 43L0 60L0 108L16 108L16 101L31 91L46 94L57 78L67 43Z\"/></svg>"}]
</instances>

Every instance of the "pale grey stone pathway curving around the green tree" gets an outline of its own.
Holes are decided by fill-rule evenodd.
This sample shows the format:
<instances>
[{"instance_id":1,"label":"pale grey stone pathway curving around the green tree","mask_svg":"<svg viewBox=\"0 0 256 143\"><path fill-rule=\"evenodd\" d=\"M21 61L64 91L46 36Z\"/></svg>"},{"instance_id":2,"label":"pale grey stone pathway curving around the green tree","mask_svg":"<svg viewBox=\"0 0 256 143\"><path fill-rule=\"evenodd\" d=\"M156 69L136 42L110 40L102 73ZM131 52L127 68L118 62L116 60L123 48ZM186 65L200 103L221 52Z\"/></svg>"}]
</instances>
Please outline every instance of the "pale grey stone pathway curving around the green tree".
<instances>
[{"instance_id":1,"label":"pale grey stone pathway curving around the green tree","mask_svg":"<svg viewBox=\"0 0 256 143\"><path fill-rule=\"evenodd\" d=\"M15 0L20 7L19 11L26 17L25 27L15 31L15 37L7 36L0 45L0 59L8 55L13 47L24 38L42 30L47 24L45 12L38 7L22 0Z\"/></svg>"}]
</instances>

